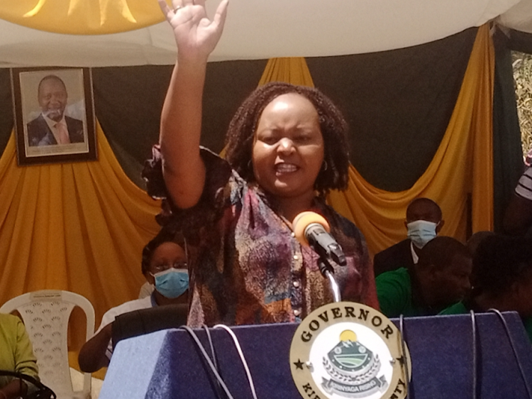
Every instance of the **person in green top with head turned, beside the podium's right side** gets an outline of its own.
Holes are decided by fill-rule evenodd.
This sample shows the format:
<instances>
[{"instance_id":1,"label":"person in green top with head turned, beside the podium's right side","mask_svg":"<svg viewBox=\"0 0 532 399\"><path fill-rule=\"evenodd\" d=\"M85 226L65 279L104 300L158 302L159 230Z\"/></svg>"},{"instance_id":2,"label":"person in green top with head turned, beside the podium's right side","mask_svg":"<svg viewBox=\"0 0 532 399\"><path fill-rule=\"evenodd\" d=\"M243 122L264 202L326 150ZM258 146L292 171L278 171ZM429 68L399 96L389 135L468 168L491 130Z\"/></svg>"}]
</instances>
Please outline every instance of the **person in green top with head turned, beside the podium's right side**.
<instances>
[{"instance_id":1,"label":"person in green top with head turned, beside the podium's right side","mask_svg":"<svg viewBox=\"0 0 532 399\"><path fill-rule=\"evenodd\" d=\"M438 236L423 246L412 268L377 277L380 310L387 317L437 315L467 295L471 270L466 246L452 237Z\"/></svg>"}]
</instances>

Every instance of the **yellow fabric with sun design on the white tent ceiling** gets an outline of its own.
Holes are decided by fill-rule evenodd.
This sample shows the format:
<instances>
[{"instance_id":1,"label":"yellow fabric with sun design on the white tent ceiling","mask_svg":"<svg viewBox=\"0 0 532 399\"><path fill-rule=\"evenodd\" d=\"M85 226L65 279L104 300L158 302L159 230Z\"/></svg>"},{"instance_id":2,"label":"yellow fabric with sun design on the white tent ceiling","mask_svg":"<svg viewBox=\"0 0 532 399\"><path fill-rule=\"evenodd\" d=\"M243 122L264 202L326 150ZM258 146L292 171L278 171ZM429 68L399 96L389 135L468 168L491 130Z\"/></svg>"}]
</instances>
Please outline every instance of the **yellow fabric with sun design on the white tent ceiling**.
<instances>
[{"instance_id":1,"label":"yellow fabric with sun design on the white tent ceiling","mask_svg":"<svg viewBox=\"0 0 532 399\"><path fill-rule=\"evenodd\" d=\"M0 0L0 18L70 35L133 31L165 20L157 1L145 0Z\"/></svg>"}]
</instances>

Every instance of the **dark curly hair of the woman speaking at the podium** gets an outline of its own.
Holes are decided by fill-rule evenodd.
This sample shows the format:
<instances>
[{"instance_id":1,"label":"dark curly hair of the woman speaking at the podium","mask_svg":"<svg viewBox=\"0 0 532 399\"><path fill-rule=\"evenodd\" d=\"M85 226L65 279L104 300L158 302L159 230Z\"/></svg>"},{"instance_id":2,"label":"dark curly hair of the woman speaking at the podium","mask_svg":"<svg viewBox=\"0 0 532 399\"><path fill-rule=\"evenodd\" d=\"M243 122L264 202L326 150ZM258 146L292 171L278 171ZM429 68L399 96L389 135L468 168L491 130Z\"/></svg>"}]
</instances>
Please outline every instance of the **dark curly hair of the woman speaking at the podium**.
<instances>
[{"instance_id":1,"label":"dark curly hair of the woman speaking at the podium","mask_svg":"<svg viewBox=\"0 0 532 399\"><path fill-rule=\"evenodd\" d=\"M240 105L229 124L226 136L226 159L248 182L255 181L251 156L257 124L267 104L282 94L296 93L308 99L318 112L323 136L326 168L321 168L314 188L321 195L329 190L345 190L348 186L348 124L331 99L318 89L272 82L258 87Z\"/></svg>"}]
</instances>

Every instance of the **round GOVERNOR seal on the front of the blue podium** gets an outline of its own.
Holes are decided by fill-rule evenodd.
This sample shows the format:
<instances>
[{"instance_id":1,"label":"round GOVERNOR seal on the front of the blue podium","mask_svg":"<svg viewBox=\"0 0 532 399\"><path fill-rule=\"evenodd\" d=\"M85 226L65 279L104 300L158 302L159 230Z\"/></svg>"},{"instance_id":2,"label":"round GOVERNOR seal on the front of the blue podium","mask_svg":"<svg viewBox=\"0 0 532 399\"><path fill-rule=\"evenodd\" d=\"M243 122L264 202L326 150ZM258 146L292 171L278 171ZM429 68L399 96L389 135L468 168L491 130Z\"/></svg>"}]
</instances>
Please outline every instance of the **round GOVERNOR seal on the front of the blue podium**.
<instances>
[{"instance_id":1,"label":"round GOVERNOR seal on the front of the blue podium","mask_svg":"<svg viewBox=\"0 0 532 399\"><path fill-rule=\"evenodd\" d=\"M397 327L365 305L337 302L312 312L294 334L290 362L304 398L406 396L406 346Z\"/></svg>"}]
</instances>

